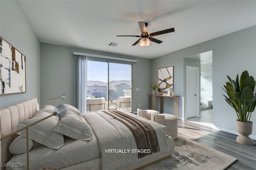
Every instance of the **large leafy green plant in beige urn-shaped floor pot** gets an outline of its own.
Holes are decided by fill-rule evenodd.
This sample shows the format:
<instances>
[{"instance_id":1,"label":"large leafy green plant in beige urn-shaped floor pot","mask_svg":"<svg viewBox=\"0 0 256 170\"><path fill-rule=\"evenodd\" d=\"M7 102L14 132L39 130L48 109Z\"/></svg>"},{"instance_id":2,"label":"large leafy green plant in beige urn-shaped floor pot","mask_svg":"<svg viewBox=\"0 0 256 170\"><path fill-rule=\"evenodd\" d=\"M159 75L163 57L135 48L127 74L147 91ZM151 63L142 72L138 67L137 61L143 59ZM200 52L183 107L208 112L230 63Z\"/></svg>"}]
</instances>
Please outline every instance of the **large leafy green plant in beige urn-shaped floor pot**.
<instances>
[{"instance_id":1,"label":"large leafy green plant in beige urn-shaped floor pot","mask_svg":"<svg viewBox=\"0 0 256 170\"><path fill-rule=\"evenodd\" d=\"M226 102L235 110L238 119L237 130L240 133L236 141L242 144L254 145L249 137L252 134L252 122L250 121L252 112L256 105L256 95L254 88L256 81L249 75L248 71L243 71L240 79L236 76L236 81L228 75L229 82L222 88L228 95L224 95Z\"/></svg>"}]
</instances>

